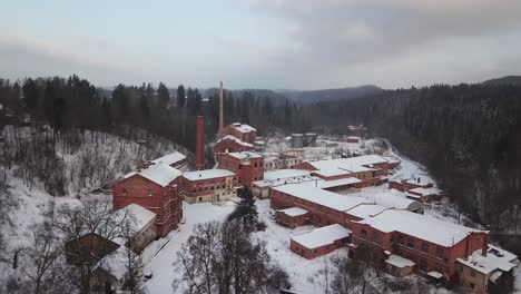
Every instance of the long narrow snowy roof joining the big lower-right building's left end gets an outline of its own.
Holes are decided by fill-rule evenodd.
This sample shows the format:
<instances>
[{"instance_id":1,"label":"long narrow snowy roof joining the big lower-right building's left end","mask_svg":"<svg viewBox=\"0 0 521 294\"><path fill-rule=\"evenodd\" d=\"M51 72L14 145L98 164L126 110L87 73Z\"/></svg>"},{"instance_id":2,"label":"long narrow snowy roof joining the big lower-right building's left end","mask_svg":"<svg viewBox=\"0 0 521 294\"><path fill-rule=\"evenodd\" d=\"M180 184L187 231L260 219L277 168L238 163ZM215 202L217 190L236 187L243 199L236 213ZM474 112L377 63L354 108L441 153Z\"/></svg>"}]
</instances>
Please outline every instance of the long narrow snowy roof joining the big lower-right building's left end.
<instances>
[{"instance_id":1,"label":"long narrow snowy roof joining the big lower-right building's left end","mask_svg":"<svg viewBox=\"0 0 521 294\"><path fill-rule=\"evenodd\" d=\"M325 207L330 207L340 212L345 212L362 203L368 203L367 199L354 196L344 196L318 187L311 184L289 184L272 189L278 190L294 197L313 202Z\"/></svg>"}]
</instances>

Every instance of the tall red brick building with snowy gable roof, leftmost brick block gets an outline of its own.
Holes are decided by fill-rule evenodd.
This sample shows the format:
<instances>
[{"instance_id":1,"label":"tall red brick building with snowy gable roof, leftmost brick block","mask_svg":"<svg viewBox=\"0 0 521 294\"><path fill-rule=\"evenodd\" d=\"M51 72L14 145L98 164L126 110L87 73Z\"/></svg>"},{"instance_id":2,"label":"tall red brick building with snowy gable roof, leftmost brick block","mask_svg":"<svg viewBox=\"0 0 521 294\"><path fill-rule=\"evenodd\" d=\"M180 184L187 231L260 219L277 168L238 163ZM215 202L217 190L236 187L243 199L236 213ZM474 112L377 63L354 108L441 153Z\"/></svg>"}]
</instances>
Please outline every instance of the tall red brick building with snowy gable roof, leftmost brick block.
<instances>
[{"instance_id":1,"label":"tall red brick building with snowy gable roof, leftmost brick block","mask_svg":"<svg viewBox=\"0 0 521 294\"><path fill-rule=\"evenodd\" d=\"M112 187L114 209L137 204L156 214L159 236L177 228L183 217L183 199L178 193L181 173L163 163L131 171Z\"/></svg>"}]
</instances>

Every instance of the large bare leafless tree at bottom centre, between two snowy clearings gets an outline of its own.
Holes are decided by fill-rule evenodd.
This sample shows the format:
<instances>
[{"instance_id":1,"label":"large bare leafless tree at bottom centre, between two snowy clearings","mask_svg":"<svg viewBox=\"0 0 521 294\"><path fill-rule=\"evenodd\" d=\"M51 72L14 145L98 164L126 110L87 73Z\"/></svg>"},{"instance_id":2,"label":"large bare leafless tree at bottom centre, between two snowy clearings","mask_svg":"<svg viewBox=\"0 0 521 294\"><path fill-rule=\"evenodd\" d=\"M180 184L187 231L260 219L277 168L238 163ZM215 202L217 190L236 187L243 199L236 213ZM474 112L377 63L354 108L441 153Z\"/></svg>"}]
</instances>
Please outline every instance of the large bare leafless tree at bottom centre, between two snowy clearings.
<instances>
[{"instance_id":1,"label":"large bare leafless tree at bottom centre, between two snowy clearings","mask_svg":"<svg viewBox=\"0 0 521 294\"><path fill-rule=\"evenodd\" d=\"M174 263L181 277L174 291L197 294L264 293L276 281L287 283L282 268L271 266L264 242L254 239L238 220L197 225ZM277 274L269 280L269 271Z\"/></svg>"}]
</instances>

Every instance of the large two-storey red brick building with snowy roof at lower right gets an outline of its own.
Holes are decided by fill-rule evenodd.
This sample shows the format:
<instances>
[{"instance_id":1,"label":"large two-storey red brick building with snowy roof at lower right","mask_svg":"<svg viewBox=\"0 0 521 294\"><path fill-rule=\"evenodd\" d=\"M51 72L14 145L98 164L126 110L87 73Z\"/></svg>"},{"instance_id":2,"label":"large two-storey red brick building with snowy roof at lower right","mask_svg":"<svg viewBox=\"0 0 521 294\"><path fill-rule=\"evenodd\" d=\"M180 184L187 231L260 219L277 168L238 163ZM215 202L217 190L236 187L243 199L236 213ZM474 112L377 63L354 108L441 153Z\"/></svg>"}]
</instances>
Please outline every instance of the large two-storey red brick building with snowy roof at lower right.
<instances>
[{"instance_id":1,"label":"large two-storey red brick building with snowy roof at lower right","mask_svg":"<svg viewBox=\"0 0 521 294\"><path fill-rule=\"evenodd\" d=\"M476 249L486 255L488 233L406 210L385 209L352 224L350 255L356 248L368 246L377 265L390 255L411 261L415 273L450 281L456 271L456 259L465 258ZM394 271L391 271L394 272Z\"/></svg>"}]
</instances>

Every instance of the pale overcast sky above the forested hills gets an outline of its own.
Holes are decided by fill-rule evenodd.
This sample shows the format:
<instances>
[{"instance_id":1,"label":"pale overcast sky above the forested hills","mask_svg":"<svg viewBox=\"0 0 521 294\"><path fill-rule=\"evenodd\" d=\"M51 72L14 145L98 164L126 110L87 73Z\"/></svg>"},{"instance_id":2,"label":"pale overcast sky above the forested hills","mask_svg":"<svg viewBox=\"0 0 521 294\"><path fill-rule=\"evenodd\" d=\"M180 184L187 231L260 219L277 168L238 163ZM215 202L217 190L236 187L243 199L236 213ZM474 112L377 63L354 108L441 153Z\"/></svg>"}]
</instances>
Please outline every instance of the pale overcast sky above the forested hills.
<instances>
[{"instance_id":1,"label":"pale overcast sky above the forested hills","mask_svg":"<svg viewBox=\"0 0 521 294\"><path fill-rule=\"evenodd\" d=\"M519 0L0 0L0 77L384 88L521 75Z\"/></svg>"}]
</instances>

